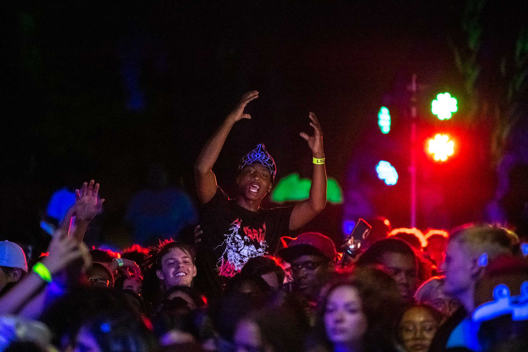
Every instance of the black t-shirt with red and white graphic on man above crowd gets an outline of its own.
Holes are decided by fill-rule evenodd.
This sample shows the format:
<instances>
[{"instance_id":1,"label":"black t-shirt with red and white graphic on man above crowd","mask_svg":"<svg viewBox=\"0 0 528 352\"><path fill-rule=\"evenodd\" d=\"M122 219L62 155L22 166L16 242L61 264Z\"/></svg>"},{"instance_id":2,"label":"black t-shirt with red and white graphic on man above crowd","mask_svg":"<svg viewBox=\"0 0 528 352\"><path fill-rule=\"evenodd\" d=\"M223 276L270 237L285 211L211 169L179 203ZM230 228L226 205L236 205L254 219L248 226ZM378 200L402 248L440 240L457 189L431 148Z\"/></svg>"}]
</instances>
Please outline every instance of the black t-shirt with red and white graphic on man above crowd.
<instances>
[{"instance_id":1,"label":"black t-shirt with red and white graphic on man above crowd","mask_svg":"<svg viewBox=\"0 0 528 352\"><path fill-rule=\"evenodd\" d=\"M217 296L249 258L275 254L281 236L290 235L293 206L252 212L230 199L220 187L200 210L202 241L196 255L195 287Z\"/></svg>"}]
</instances>

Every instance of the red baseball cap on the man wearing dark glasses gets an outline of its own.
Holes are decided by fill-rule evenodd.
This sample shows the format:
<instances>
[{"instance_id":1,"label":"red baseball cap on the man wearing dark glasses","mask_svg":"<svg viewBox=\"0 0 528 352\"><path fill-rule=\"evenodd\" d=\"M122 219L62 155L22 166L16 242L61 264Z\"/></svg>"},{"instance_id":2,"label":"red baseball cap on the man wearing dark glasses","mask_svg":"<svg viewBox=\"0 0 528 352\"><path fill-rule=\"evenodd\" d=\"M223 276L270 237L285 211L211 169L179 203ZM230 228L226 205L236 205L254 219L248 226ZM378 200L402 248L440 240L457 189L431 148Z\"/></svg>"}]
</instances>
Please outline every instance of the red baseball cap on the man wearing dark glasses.
<instances>
[{"instance_id":1,"label":"red baseball cap on the man wearing dark glasses","mask_svg":"<svg viewBox=\"0 0 528 352\"><path fill-rule=\"evenodd\" d=\"M290 244L277 252L283 260L291 263L301 255L316 254L328 260L335 260L337 252L334 241L318 232L301 233Z\"/></svg>"}]
</instances>

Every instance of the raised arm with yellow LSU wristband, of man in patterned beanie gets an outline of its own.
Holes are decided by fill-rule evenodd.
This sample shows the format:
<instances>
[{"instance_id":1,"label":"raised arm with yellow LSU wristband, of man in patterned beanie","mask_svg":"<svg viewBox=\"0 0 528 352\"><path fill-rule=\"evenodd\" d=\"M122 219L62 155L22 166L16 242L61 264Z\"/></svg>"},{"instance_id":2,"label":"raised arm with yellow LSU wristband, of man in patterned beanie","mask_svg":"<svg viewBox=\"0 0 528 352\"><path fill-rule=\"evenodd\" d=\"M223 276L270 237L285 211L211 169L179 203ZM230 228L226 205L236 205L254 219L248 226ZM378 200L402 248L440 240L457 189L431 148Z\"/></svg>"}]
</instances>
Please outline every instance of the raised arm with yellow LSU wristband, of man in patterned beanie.
<instances>
[{"instance_id":1,"label":"raised arm with yellow LSU wristband, of man in patterned beanie","mask_svg":"<svg viewBox=\"0 0 528 352\"><path fill-rule=\"evenodd\" d=\"M306 139L308 146L312 149L314 160L314 173L312 175L312 187L310 196L306 201L295 204L290 216L290 230L297 230L312 220L326 206L326 169L324 164L325 153L323 150L323 132L319 120L313 112L309 114L310 126L314 128L314 135L308 136L301 132L300 136ZM323 160L321 160L323 159Z\"/></svg>"}]
</instances>

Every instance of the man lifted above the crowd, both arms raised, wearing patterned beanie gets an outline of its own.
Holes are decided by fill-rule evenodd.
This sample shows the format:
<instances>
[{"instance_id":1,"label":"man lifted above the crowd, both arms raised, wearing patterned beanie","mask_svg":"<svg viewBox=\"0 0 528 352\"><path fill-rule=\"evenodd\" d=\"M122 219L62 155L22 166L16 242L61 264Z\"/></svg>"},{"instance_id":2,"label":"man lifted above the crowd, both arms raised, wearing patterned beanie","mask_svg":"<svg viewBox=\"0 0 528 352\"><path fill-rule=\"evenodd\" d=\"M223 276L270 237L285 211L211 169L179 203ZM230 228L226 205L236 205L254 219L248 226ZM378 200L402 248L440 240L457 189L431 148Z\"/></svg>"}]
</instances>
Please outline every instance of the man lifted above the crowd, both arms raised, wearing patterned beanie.
<instances>
[{"instance_id":1,"label":"man lifted above the crowd, both arms raised, wearing patterned beanie","mask_svg":"<svg viewBox=\"0 0 528 352\"><path fill-rule=\"evenodd\" d=\"M262 198L271 191L277 168L263 144L247 153L240 161L237 196L229 198L216 184L212 172L231 127L241 119L250 119L244 108L259 96L251 91L225 118L206 142L194 165L196 191L200 203L200 225L203 231L198 246L199 275L196 285L209 296L221 292L228 279L240 272L246 262L266 253L274 254L280 237L299 230L326 206L326 171L323 137L319 121L310 112L314 135L300 136L312 149L314 171L309 198L290 207L262 209Z\"/></svg>"}]
</instances>

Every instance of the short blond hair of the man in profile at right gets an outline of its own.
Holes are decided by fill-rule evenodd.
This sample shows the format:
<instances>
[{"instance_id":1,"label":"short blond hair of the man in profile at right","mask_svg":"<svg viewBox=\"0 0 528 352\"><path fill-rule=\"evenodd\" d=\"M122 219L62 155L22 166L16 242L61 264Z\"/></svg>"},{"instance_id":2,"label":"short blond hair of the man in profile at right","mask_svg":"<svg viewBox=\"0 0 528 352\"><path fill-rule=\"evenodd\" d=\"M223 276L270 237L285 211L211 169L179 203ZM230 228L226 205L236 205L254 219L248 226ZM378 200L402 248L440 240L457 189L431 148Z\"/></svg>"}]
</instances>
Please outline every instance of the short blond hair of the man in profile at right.
<instances>
[{"instance_id":1,"label":"short blond hair of the man in profile at right","mask_svg":"<svg viewBox=\"0 0 528 352\"><path fill-rule=\"evenodd\" d=\"M451 233L449 242L453 241L464 245L469 255L476 257L486 253L488 259L513 254L519 244L514 232L491 224L461 226Z\"/></svg>"}]
</instances>

